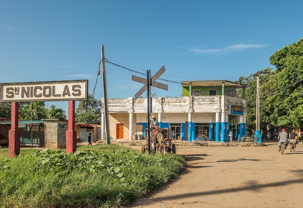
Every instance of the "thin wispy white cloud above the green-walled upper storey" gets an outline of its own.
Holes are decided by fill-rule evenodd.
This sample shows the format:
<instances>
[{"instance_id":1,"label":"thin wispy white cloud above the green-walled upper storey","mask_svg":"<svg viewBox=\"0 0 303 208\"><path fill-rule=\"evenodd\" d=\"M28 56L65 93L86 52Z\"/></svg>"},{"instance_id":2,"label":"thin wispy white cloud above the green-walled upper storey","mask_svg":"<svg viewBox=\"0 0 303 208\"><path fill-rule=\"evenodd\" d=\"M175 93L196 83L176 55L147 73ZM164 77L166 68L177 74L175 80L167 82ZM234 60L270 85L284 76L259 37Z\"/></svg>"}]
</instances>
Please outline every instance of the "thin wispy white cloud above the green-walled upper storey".
<instances>
[{"instance_id":1,"label":"thin wispy white cloud above the green-walled upper storey","mask_svg":"<svg viewBox=\"0 0 303 208\"><path fill-rule=\"evenodd\" d=\"M230 45L230 46L227 46L224 48L218 48L218 49L200 49L199 47L196 47L189 51L195 52L195 53L201 53L201 54L217 54L217 53L244 51L244 50L252 49L252 48L263 48L265 46L266 46L265 44L236 44L236 45Z\"/></svg>"}]
</instances>

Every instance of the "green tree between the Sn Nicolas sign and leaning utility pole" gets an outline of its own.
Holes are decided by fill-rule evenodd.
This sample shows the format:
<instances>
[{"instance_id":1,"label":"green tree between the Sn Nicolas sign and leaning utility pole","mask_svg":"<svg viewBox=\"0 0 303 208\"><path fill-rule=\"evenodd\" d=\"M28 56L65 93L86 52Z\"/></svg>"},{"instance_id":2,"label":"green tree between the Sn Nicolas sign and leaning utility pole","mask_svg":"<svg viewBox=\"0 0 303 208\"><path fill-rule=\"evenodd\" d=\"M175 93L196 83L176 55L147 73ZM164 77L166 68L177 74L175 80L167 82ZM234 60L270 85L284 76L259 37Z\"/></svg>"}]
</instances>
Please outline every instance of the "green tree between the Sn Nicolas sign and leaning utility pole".
<instances>
[{"instance_id":1,"label":"green tree between the Sn Nicolas sign and leaning utility pole","mask_svg":"<svg viewBox=\"0 0 303 208\"><path fill-rule=\"evenodd\" d=\"M100 124L101 101L96 100L92 95L88 94L88 100L81 100L79 102L75 120L80 123L96 122Z\"/></svg>"}]
</instances>

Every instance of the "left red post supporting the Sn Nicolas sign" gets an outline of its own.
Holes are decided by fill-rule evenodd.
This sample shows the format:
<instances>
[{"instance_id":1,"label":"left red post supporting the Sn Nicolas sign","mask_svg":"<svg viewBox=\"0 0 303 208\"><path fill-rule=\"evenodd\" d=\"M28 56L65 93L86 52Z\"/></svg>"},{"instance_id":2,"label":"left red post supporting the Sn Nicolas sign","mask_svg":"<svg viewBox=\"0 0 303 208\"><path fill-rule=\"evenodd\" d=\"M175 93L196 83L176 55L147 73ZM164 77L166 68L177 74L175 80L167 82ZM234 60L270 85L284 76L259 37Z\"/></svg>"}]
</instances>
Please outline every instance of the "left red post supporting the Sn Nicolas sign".
<instances>
[{"instance_id":1,"label":"left red post supporting the Sn Nicolas sign","mask_svg":"<svg viewBox=\"0 0 303 208\"><path fill-rule=\"evenodd\" d=\"M19 103L12 102L11 130L8 131L8 157L20 154L20 131L18 129Z\"/></svg>"}]
</instances>

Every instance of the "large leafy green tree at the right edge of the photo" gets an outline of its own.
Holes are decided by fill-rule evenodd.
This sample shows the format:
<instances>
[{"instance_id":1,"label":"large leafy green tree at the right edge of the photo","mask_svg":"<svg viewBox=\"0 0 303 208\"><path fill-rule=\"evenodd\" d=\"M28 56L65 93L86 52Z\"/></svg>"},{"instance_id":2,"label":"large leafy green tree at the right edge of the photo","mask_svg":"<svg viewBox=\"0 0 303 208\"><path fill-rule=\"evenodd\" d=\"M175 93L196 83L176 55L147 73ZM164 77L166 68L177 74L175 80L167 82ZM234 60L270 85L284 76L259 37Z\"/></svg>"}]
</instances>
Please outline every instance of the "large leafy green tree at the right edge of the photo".
<instances>
[{"instance_id":1,"label":"large leafy green tree at the right edge of the photo","mask_svg":"<svg viewBox=\"0 0 303 208\"><path fill-rule=\"evenodd\" d=\"M275 65L272 93L265 97L272 104L269 112L279 126L303 126L303 38L277 50L269 58Z\"/></svg>"}]
</instances>

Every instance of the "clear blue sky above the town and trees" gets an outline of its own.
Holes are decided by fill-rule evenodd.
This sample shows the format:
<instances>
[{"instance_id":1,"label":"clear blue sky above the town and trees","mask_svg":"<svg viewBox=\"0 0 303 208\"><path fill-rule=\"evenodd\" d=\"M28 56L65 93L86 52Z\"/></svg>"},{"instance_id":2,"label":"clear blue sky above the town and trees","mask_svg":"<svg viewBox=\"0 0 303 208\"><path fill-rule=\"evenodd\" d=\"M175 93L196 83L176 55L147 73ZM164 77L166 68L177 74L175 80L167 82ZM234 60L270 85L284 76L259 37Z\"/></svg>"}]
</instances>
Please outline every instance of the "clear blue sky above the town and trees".
<instances>
[{"instance_id":1,"label":"clear blue sky above the town and trees","mask_svg":"<svg viewBox=\"0 0 303 208\"><path fill-rule=\"evenodd\" d=\"M88 79L92 93L101 45L106 59L141 73L165 65L163 79L235 81L270 67L270 55L303 37L302 8L277 0L2 0L0 82ZM134 97L142 84L132 75L143 77L106 63L108 98ZM180 84L159 82L168 91L152 88L156 96L181 96ZM67 102L55 105L67 113Z\"/></svg>"}]
</instances>

